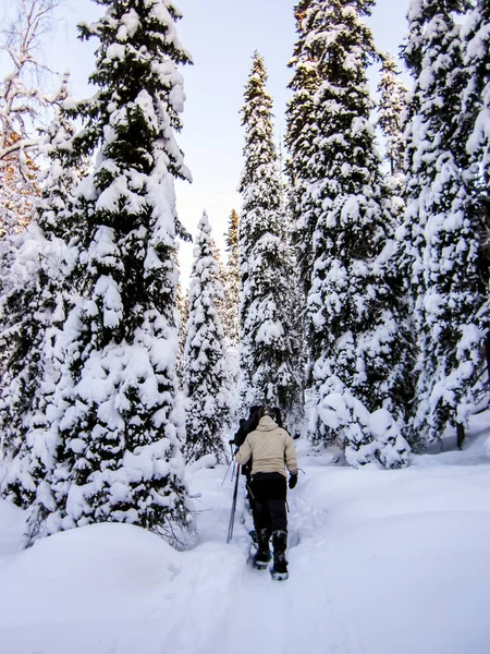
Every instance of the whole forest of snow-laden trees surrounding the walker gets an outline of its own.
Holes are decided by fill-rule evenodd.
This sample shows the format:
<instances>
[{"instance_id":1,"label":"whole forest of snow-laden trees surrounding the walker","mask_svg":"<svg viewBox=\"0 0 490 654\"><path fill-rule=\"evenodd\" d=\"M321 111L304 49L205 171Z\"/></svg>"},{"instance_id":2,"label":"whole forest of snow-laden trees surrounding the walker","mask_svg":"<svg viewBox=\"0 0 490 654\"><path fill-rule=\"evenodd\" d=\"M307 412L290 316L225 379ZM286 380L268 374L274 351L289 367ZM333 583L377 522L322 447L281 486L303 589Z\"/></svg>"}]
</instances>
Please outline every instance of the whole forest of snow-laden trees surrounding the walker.
<instances>
[{"instance_id":1,"label":"whole forest of snow-laden trees surrounding the walker","mask_svg":"<svg viewBox=\"0 0 490 654\"><path fill-rule=\"evenodd\" d=\"M203 214L188 290L182 15L97 3L88 99L68 73L36 83L59 0L22 0L2 34L0 494L28 511L25 544L94 522L185 540L186 465L228 462L255 404L356 469L408 467L449 431L463 447L489 400L488 1L407 2L411 88L375 0L292 2L284 156L255 52L243 204L224 263Z\"/></svg>"}]
</instances>

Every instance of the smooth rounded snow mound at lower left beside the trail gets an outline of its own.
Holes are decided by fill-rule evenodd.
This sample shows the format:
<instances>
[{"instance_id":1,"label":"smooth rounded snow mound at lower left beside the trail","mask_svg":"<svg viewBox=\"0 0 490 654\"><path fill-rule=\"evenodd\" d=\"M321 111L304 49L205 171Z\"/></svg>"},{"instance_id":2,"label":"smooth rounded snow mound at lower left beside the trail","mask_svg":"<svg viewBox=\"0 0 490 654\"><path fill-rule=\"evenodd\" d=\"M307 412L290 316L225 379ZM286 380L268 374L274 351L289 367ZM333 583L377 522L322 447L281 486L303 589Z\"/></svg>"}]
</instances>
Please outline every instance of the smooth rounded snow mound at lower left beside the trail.
<instances>
[{"instance_id":1,"label":"smooth rounded snow mound at lower left beside the trail","mask_svg":"<svg viewBox=\"0 0 490 654\"><path fill-rule=\"evenodd\" d=\"M19 554L4 571L0 627L119 614L171 581L177 559L164 541L133 525L91 524L56 534Z\"/></svg>"}]
</instances>

